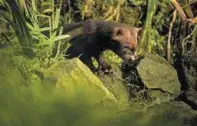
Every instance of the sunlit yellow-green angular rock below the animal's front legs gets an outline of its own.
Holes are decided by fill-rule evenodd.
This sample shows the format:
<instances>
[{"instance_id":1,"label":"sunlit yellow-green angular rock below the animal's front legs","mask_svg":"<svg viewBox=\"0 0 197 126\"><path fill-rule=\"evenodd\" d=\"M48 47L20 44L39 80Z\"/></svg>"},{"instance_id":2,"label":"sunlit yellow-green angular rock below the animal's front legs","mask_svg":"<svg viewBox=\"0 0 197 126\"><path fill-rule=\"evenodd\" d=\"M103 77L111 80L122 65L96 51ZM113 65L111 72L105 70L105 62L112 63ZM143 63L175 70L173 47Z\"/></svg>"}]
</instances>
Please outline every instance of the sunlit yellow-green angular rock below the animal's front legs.
<instances>
[{"instance_id":1,"label":"sunlit yellow-green angular rock below the animal's front legs","mask_svg":"<svg viewBox=\"0 0 197 126\"><path fill-rule=\"evenodd\" d=\"M71 96L82 93L91 103L103 100L116 102L114 95L78 58L53 65L44 71L43 80L55 84L57 88L64 88Z\"/></svg>"}]
</instances>

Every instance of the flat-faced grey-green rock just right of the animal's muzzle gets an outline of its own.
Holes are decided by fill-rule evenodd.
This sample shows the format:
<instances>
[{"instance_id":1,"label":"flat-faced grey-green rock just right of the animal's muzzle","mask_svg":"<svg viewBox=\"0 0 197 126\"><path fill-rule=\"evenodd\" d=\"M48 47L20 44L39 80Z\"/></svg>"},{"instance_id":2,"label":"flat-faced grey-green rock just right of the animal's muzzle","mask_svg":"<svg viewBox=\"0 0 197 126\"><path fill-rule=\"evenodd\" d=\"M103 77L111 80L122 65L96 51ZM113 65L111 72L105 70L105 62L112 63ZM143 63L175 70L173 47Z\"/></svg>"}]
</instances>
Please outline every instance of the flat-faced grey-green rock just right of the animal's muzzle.
<instances>
[{"instance_id":1,"label":"flat-faced grey-green rock just right of the animal's muzzle","mask_svg":"<svg viewBox=\"0 0 197 126\"><path fill-rule=\"evenodd\" d=\"M172 94L180 93L176 70L162 57L146 54L137 66L143 84L149 89L160 89Z\"/></svg>"}]
</instances>

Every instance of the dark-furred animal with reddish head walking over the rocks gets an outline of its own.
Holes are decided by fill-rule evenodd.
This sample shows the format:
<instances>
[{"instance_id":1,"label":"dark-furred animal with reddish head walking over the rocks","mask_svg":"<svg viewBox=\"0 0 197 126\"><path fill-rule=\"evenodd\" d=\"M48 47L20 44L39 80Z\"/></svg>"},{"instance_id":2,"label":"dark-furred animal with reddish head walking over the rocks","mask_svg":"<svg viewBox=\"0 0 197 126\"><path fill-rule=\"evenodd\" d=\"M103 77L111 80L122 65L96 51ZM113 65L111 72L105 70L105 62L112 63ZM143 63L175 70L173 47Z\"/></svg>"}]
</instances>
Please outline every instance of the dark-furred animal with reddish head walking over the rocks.
<instances>
[{"instance_id":1,"label":"dark-furred animal with reddish head walking over the rocks","mask_svg":"<svg viewBox=\"0 0 197 126\"><path fill-rule=\"evenodd\" d=\"M77 27L82 27L82 33L70 40L71 46L67 50L66 58L79 57L92 71L95 71L96 68L91 60L91 57L95 57L99 68L106 71L111 67L104 62L103 51L110 49L126 61L134 56L139 28L105 21L87 20L68 25L64 28L64 33Z\"/></svg>"}]
</instances>

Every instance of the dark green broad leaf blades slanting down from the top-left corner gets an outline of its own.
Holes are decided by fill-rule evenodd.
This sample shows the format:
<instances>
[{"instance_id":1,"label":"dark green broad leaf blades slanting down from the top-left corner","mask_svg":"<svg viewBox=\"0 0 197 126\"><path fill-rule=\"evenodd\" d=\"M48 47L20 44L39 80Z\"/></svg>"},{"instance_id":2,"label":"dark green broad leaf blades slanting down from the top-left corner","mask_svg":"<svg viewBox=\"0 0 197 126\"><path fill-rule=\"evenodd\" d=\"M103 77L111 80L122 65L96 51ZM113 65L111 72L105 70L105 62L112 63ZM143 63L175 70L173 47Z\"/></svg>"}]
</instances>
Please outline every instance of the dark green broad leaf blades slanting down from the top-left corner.
<instances>
[{"instance_id":1,"label":"dark green broad leaf blades slanting down from the top-left corner","mask_svg":"<svg viewBox=\"0 0 197 126\"><path fill-rule=\"evenodd\" d=\"M32 50L30 50L29 47L32 44L32 37L26 26L21 4L15 0L6 0L3 2L3 7L6 9L0 12L1 20L11 26L17 36L18 45L22 48L23 53L31 57Z\"/></svg>"}]
</instances>

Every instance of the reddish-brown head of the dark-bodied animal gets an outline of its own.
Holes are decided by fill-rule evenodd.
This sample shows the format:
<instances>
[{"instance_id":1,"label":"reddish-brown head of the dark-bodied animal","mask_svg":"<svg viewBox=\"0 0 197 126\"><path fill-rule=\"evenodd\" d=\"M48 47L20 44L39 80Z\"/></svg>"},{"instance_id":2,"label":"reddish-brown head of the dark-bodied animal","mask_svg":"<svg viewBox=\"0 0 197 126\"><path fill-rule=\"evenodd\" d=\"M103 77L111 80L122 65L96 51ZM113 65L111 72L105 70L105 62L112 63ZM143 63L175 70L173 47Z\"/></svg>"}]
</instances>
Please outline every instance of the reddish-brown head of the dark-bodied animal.
<instances>
[{"instance_id":1,"label":"reddish-brown head of the dark-bodied animal","mask_svg":"<svg viewBox=\"0 0 197 126\"><path fill-rule=\"evenodd\" d=\"M121 56L124 60L135 60L135 51L138 45L138 33L142 28L136 27L115 27L112 40L120 43L123 47ZM125 49L129 51L125 51ZM122 54L122 55L123 55Z\"/></svg>"}]
</instances>

